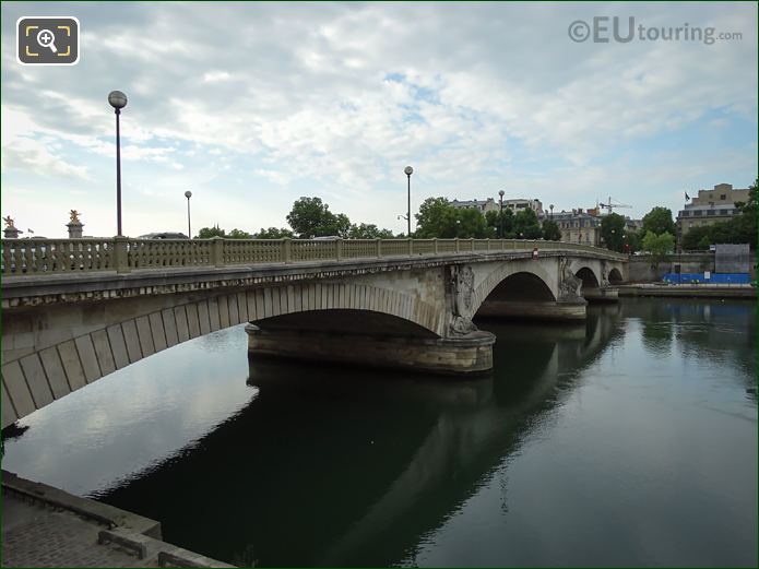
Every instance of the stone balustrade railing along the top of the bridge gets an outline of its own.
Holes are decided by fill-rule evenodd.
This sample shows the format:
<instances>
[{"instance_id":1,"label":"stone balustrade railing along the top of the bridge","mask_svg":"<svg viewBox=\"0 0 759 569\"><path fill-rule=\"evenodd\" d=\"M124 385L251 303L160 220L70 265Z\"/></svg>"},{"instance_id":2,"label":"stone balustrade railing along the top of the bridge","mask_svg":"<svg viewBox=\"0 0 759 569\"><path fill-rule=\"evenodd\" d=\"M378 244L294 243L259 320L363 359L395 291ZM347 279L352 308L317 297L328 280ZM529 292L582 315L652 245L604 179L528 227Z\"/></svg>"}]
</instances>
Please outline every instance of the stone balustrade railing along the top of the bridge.
<instances>
[{"instance_id":1,"label":"stone balustrade railing along the top of the bridge","mask_svg":"<svg viewBox=\"0 0 759 569\"><path fill-rule=\"evenodd\" d=\"M627 259L626 254L589 245L520 239L3 239L0 274L128 273L142 269L410 258L535 248Z\"/></svg>"}]
</instances>

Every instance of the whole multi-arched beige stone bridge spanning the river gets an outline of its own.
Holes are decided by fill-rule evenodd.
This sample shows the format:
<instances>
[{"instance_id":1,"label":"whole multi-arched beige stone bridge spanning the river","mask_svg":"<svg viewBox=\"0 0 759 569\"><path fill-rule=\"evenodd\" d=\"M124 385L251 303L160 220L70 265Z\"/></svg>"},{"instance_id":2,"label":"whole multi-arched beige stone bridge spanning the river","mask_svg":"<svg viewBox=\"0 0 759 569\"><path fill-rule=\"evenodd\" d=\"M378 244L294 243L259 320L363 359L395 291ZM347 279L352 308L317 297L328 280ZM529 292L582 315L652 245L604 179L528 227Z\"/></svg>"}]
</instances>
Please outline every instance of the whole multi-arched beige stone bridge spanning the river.
<instances>
[{"instance_id":1,"label":"whole multi-arched beige stone bridge spanning the river","mask_svg":"<svg viewBox=\"0 0 759 569\"><path fill-rule=\"evenodd\" d=\"M472 374L475 316L582 319L627 258L553 241L3 240L2 426L250 322L251 354ZM609 295L610 296L610 295Z\"/></svg>"}]
</instances>

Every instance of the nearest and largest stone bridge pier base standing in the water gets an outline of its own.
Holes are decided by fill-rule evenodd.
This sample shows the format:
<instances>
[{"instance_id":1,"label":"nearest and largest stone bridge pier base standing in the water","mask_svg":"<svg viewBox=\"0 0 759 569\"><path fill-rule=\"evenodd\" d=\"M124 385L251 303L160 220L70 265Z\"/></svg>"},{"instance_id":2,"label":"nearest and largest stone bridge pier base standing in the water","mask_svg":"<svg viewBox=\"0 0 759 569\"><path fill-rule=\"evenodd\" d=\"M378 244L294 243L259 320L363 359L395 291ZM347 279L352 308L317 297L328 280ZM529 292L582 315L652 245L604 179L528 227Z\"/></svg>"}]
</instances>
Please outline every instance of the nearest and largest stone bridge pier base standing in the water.
<instances>
[{"instance_id":1,"label":"nearest and largest stone bridge pier base standing in the water","mask_svg":"<svg viewBox=\"0 0 759 569\"><path fill-rule=\"evenodd\" d=\"M490 332L458 337L415 337L246 327L251 357L286 357L363 366L394 367L444 375L493 368Z\"/></svg>"}]
</instances>

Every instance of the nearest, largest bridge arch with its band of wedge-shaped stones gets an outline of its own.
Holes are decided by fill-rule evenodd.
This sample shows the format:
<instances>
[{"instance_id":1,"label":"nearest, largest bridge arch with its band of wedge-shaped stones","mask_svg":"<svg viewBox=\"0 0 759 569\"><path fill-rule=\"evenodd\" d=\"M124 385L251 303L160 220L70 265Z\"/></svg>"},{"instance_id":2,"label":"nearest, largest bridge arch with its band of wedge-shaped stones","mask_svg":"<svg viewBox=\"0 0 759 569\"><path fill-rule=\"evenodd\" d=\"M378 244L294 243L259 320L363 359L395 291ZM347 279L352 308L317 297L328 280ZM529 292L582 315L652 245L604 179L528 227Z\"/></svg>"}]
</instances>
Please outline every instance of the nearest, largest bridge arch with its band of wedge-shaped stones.
<instances>
[{"instance_id":1,"label":"nearest, largest bridge arch with its band of wedge-shaped stones","mask_svg":"<svg viewBox=\"0 0 759 569\"><path fill-rule=\"evenodd\" d=\"M162 299L169 304L176 297ZM197 298L197 296L195 296ZM270 322L296 312L364 311L373 319L406 321L439 337L442 316L412 295L370 285L298 283L233 292L129 315L85 333L69 328L58 341L32 346L2 365L2 427L69 393L177 344L245 322ZM386 315L386 316L379 316ZM365 327L365 331L371 332Z\"/></svg>"}]
</instances>

